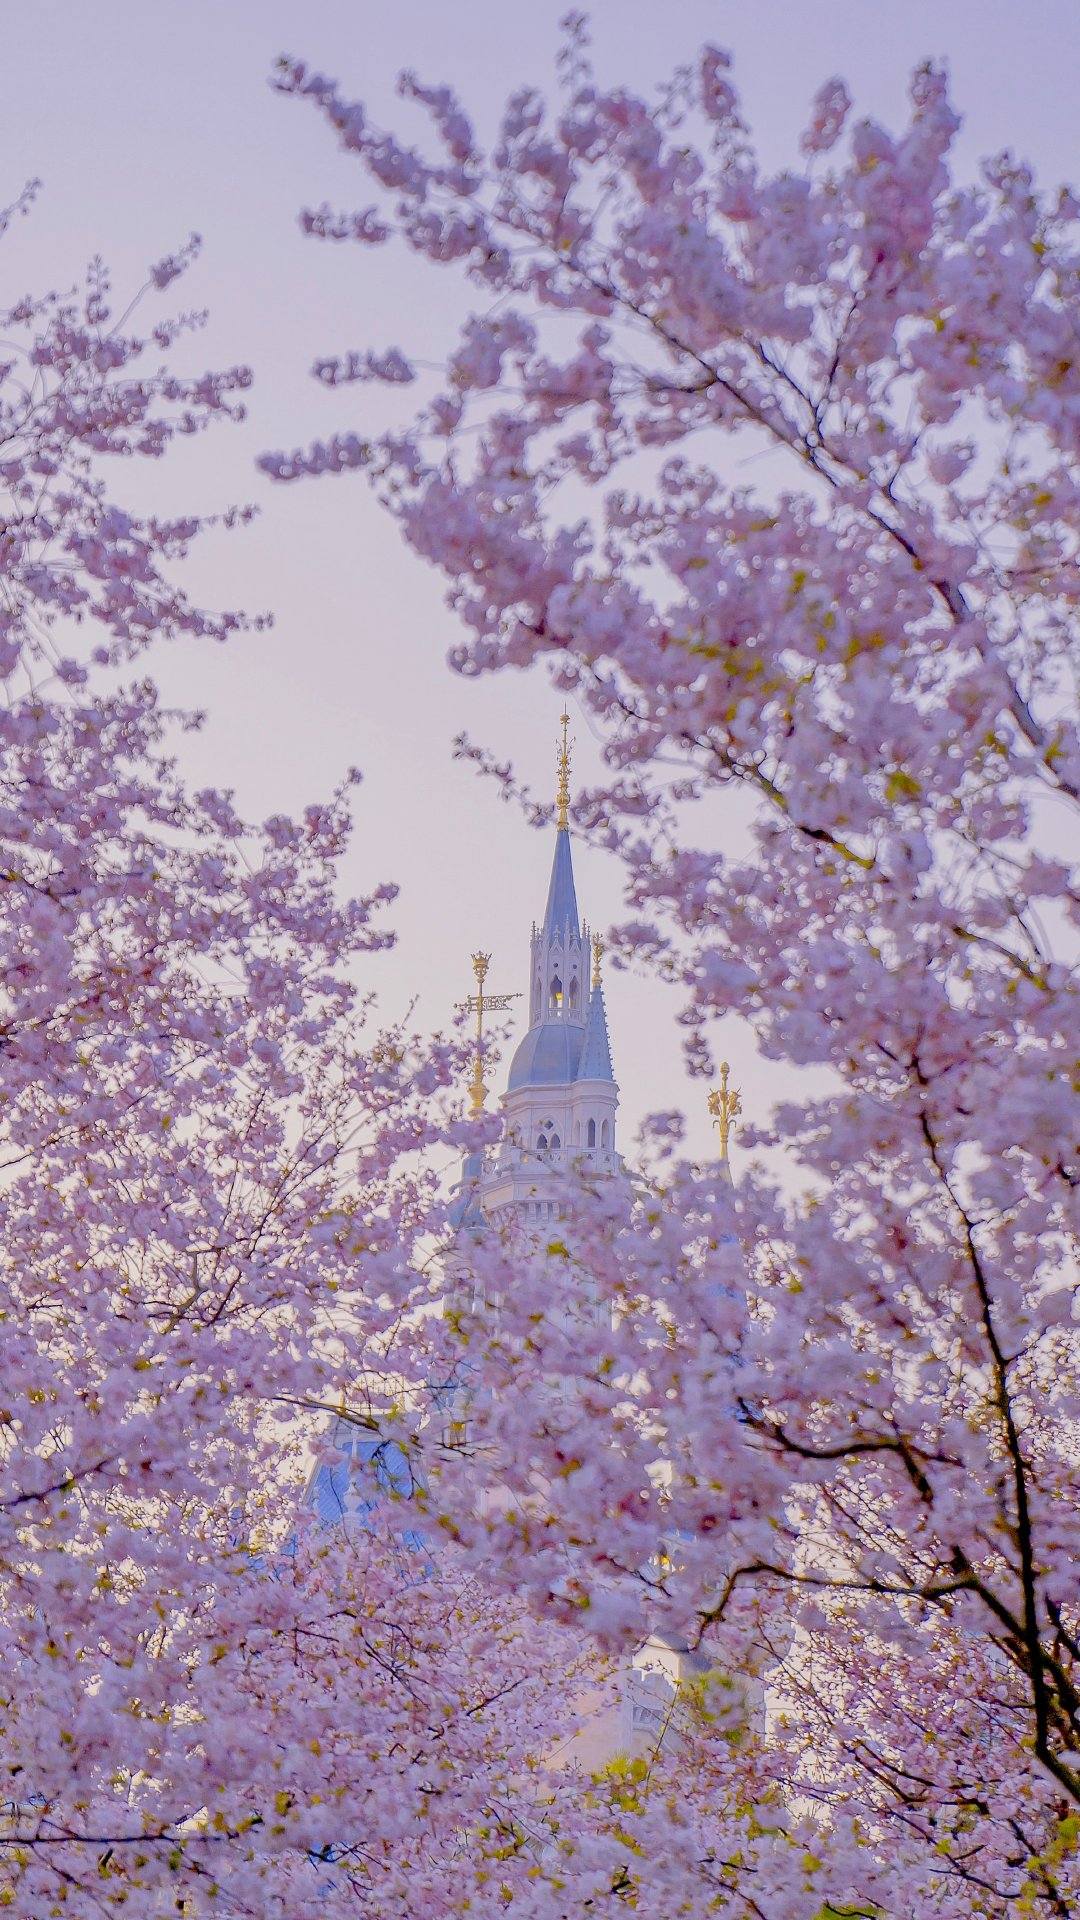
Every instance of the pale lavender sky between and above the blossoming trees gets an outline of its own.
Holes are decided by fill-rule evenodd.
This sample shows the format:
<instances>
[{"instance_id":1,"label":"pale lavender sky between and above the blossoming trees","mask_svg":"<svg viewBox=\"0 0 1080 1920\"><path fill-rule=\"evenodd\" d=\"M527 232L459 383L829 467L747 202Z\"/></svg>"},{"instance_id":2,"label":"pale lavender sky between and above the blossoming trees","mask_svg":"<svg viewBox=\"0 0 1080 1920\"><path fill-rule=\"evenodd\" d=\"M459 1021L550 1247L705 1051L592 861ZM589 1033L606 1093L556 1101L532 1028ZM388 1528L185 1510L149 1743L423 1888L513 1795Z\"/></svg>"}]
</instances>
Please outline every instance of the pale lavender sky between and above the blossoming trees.
<instances>
[{"instance_id":1,"label":"pale lavender sky between and above the blossoming trees","mask_svg":"<svg viewBox=\"0 0 1080 1920\"><path fill-rule=\"evenodd\" d=\"M394 75L411 65L452 81L484 119L523 79L548 81L565 4L35 0L4 17L0 202L29 175L44 180L33 219L4 238L6 296L67 284L94 252L131 290L194 228L204 255L181 298L211 319L192 359L256 371L248 424L184 449L167 474L138 476L135 495L263 509L252 530L213 543L200 586L215 603L273 609L275 630L156 662L171 697L209 710L188 764L200 781L234 785L256 814L304 804L348 764L365 770L348 877L404 889L398 950L373 964L371 983L392 1012L419 995L429 1025L467 991L477 945L494 954L496 989L527 983L550 860L550 835L530 833L454 764L450 741L467 730L548 791L559 703L536 676L450 674L454 620L440 584L363 480L282 490L254 470L265 447L382 417L379 396L317 390L307 376L317 353L400 342L434 357L469 303L450 275L398 252L300 236L302 204L367 196L315 115L275 96L267 75L279 52L300 54L390 119ZM596 0L590 13L603 81L648 86L701 40L726 44L769 161L796 159L807 102L828 75L846 75L861 111L896 123L911 67L934 56L947 60L965 115L963 163L1009 146L1047 182L1078 171L1078 0ZM577 733L588 776L582 722ZM619 876L596 854L578 852L577 866L582 910L603 925L619 910ZM609 977L623 1135L650 1108L686 1102L705 1150L703 1092L684 1081L675 1006L653 983ZM755 1060L734 1020L721 1050L749 1110L798 1085Z\"/></svg>"}]
</instances>

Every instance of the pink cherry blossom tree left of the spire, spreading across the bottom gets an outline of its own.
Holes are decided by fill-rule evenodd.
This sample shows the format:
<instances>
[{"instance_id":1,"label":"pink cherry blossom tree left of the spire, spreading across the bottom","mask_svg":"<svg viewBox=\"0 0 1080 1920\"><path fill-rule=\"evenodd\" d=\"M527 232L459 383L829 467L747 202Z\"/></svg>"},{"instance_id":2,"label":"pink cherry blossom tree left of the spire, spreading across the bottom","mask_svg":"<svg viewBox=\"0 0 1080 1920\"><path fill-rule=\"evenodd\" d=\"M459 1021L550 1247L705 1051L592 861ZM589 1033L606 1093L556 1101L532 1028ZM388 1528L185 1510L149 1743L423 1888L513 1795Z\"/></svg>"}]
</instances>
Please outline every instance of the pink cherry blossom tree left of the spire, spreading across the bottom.
<instances>
[{"instance_id":1,"label":"pink cherry blossom tree left of the spire, spreading across the bottom","mask_svg":"<svg viewBox=\"0 0 1080 1920\"><path fill-rule=\"evenodd\" d=\"M342 897L354 781L246 822L188 791L198 718L146 674L258 626L177 584L242 513L113 488L244 405L244 369L177 371L194 319L138 324L194 252L123 313L94 263L4 315L0 1907L684 1899L724 1801L680 1811L678 1755L723 1766L730 1713L701 1690L651 1757L582 1770L605 1657L480 1578L429 1492L417 1390L459 1361L423 1332L429 1150L477 1127L459 1041L377 1021L392 887ZM367 1480L327 1524L311 1484L354 1471L350 1436Z\"/></svg>"}]
</instances>

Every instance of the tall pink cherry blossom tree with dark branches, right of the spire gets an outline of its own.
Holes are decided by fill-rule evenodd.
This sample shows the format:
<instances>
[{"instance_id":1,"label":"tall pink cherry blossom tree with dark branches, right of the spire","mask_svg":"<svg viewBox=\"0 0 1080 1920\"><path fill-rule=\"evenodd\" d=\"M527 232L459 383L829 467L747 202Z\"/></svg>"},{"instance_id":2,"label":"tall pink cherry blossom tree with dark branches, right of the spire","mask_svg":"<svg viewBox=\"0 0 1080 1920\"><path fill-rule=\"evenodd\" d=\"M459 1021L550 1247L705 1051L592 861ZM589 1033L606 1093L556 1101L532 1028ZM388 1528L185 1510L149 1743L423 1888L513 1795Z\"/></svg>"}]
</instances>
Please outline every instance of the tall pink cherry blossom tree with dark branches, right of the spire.
<instances>
[{"instance_id":1,"label":"tall pink cherry blossom tree with dark branches, right of the spire","mask_svg":"<svg viewBox=\"0 0 1080 1920\"><path fill-rule=\"evenodd\" d=\"M609 778L575 818L626 862L621 950L682 981L692 1066L734 1012L822 1089L744 1135L796 1190L751 1171L736 1204L669 1158L619 1233L598 1192L546 1250L477 1248L484 1311L446 1338L521 1500L448 1494L454 1524L607 1644L667 1622L738 1672L782 1622L774 1780L815 1837L798 1872L732 1845L719 1910L1063 1916L1078 202L1007 152L955 177L932 65L897 132L828 81L778 173L721 50L644 100L580 17L555 102L519 90L490 140L411 73L421 144L300 60L277 84L369 196L306 230L400 240L479 311L434 382L407 340L321 361L415 386L409 420L265 468L367 472L446 576L454 664L580 699ZM696 831L723 795L749 854Z\"/></svg>"}]
</instances>

